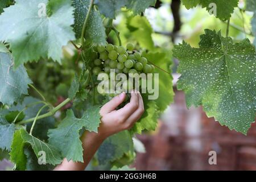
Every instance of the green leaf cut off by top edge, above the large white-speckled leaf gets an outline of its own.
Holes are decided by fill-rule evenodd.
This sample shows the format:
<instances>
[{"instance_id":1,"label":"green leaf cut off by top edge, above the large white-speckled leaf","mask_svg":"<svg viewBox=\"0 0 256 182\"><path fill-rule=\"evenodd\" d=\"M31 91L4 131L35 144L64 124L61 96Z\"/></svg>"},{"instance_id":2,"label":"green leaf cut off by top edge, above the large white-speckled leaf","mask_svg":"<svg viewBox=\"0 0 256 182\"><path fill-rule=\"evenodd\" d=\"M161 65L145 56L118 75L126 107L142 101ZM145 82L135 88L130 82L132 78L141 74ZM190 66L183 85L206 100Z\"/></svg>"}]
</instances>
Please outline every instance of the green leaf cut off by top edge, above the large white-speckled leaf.
<instances>
[{"instance_id":1,"label":"green leaf cut off by top edge, above the large white-speckled leaf","mask_svg":"<svg viewBox=\"0 0 256 182\"><path fill-rule=\"evenodd\" d=\"M214 15L221 20L227 20L234 12L234 8L237 7L238 1L239 0L183 0L182 2L187 9L191 9L200 4L206 7L210 14L213 14L216 8L216 14Z\"/></svg>"}]
</instances>

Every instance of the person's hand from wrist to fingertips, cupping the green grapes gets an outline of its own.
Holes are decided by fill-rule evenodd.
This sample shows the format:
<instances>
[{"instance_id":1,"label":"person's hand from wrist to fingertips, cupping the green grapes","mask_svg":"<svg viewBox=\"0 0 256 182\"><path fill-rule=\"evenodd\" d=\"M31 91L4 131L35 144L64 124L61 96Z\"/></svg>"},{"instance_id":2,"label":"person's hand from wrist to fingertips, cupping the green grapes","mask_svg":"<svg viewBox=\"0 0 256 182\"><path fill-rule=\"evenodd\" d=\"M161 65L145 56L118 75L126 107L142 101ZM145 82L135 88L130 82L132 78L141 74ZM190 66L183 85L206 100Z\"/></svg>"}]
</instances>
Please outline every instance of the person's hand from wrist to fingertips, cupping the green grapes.
<instances>
[{"instance_id":1,"label":"person's hand from wrist to fingertips, cupping the green grapes","mask_svg":"<svg viewBox=\"0 0 256 182\"><path fill-rule=\"evenodd\" d=\"M128 104L119 110L117 106L125 100L126 94L121 93L101 107L101 124L98 128L98 135L105 139L110 135L122 130L131 129L134 123L141 118L144 112L144 105L141 94L133 90Z\"/></svg>"}]
</instances>

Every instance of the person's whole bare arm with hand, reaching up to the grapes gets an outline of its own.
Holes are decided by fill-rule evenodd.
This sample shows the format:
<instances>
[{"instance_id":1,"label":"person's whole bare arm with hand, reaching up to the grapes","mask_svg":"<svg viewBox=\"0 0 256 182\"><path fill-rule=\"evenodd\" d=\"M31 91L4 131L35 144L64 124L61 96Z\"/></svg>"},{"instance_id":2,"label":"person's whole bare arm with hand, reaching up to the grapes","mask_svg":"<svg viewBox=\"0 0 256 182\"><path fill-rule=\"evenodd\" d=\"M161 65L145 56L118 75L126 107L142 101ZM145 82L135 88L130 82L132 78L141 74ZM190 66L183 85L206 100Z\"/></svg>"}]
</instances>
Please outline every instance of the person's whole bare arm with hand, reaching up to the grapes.
<instances>
[{"instance_id":1,"label":"person's whole bare arm with hand, reaching up to the grapes","mask_svg":"<svg viewBox=\"0 0 256 182\"><path fill-rule=\"evenodd\" d=\"M100 147L101 143L110 135L127 130L133 127L134 123L141 118L144 112L144 105L141 94L134 91L131 93L130 102L119 110L117 106L125 100L125 93L115 96L111 101L102 106L100 110L101 124L98 133L86 131L82 137L82 148L84 149L84 163L75 163L64 159L63 162L55 168L57 171L80 171L84 170L89 164L93 155Z\"/></svg>"}]
</instances>

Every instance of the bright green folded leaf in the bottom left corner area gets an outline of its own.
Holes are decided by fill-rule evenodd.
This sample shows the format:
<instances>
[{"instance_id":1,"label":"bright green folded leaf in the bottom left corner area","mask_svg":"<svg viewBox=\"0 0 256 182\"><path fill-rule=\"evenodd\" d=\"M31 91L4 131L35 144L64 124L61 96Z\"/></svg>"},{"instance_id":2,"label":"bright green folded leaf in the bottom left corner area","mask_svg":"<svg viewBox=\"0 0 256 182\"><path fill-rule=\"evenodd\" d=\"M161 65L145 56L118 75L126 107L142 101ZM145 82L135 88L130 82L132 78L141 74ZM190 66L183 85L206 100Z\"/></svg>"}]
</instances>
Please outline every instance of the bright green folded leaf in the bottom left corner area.
<instances>
[{"instance_id":1,"label":"bright green folded leaf in the bottom left corner area","mask_svg":"<svg viewBox=\"0 0 256 182\"><path fill-rule=\"evenodd\" d=\"M11 144L10 152L11 162L16 164L16 169L18 170L26 169L27 158L24 154L25 144L30 144L37 158L40 158L42 155L40 154L41 151L45 152L47 164L56 165L62 162L63 158L55 147L33 137L32 135L28 134L26 130L20 129L14 133L14 139L13 143Z\"/></svg>"}]
</instances>

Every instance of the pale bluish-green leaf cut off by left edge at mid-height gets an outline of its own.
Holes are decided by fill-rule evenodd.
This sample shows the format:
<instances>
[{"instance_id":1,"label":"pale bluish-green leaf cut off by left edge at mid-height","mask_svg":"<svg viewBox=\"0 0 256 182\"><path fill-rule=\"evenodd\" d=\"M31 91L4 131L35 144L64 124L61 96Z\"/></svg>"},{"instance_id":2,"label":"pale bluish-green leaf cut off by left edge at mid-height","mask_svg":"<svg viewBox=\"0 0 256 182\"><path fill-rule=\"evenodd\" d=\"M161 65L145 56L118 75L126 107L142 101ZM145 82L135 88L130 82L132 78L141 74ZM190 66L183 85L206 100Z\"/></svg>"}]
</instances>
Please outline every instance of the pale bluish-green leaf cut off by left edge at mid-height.
<instances>
[{"instance_id":1,"label":"pale bluish-green leaf cut off by left edge at mid-height","mask_svg":"<svg viewBox=\"0 0 256 182\"><path fill-rule=\"evenodd\" d=\"M24 66L14 70L10 53L0 52L0 102L12 105L27 94L28 84L31 80Z\"/></svg>"}]
</instances>

